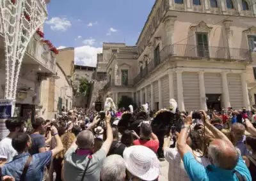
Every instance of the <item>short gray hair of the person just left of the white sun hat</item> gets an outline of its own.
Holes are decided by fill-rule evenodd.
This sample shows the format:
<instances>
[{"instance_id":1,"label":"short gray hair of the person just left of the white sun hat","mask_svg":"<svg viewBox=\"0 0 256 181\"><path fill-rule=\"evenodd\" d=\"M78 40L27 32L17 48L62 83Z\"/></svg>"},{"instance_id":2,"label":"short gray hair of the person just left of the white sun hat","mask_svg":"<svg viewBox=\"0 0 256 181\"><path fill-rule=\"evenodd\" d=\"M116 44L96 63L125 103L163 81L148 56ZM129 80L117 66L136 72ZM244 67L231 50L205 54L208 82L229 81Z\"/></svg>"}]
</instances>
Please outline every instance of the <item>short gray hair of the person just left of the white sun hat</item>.
<instances>
[{"instance_id":1,"label":"short gray hair of the person just left of the white sun hat","mask_svg":"<svg viewBox=\"0 0 256 181\"><path fill-rule=\"evenodd\" d=\"M102 164L100 178L102 181L122 181L125 179L125 161L121 156L106 157Z\"/></svg>"}]
</instances>

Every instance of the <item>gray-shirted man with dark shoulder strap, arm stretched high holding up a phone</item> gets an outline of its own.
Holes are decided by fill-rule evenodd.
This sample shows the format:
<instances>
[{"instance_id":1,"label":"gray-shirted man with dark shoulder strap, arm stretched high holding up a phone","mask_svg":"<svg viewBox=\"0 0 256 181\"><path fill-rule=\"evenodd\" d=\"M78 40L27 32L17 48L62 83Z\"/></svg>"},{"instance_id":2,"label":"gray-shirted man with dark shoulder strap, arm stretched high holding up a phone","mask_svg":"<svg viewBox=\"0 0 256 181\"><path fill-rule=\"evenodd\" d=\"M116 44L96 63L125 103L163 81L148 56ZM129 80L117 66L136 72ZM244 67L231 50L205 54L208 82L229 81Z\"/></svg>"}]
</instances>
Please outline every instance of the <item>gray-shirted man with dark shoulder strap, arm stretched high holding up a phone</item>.
<instances>
[{"instance_id":1,"label":"gray-shirted man with dark shoulder strap, arm stretched high holding up a phone","mask_svg":"<svg viewBox=\"0 0 256 181\"><path fill-rule=\"evenodd\" d=\"M94 135L90 130L84 130L79 133L76 143L67 150L63 170L65 181L100 180L101 166L113 141L110 113L106 116L105 120L107 139L97 152L93 152ZM97 122L97 117L93 120L93 125L95 122Z\"/></svg>"}]
</instances>

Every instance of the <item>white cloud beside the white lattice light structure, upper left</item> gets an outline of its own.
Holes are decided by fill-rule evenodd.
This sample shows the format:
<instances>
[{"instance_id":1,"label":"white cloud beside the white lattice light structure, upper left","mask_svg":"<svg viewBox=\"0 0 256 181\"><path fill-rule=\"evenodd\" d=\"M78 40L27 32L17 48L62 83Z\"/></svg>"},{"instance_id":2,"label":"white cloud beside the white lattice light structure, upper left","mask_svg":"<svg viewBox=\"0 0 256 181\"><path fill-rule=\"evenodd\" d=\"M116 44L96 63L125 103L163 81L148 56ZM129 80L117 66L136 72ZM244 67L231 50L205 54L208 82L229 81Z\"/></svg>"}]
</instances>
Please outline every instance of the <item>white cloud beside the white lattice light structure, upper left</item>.
<instances>
[{"instance_id":1,"label":"white cloud beside the white lattice light structure, upper left","mask_svg":"<svg viewBox=\"0 0 256 181\"><path fill-rule=\"evenodd\" d=\"M71 27L72 25L67 18L60 17L53 17L45 23L51 25L53 31L67 31L68 27Z\"/></svg>"}]
</instances>

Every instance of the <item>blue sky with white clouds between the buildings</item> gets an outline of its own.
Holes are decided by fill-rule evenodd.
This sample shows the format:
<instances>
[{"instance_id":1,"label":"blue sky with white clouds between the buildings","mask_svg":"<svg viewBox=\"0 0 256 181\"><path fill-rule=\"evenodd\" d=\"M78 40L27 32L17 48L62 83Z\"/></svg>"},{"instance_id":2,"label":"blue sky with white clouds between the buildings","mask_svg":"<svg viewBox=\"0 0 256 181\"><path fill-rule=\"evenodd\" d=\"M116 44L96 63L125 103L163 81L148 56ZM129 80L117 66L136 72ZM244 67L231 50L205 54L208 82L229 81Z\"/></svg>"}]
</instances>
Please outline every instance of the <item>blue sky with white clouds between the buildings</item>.
<instances>
[{"instance_id":1,"label":"blue sky with white clouds between the buildings","mask_svg":"<svg viewBox=\"0 0 256 181\"><path fill-rule=\"evenodd\" d=\"M45 39L75 47L75 63L96 66L102 42L135 45L154 0L51 0Z\"/></svg>"}]
</instances>

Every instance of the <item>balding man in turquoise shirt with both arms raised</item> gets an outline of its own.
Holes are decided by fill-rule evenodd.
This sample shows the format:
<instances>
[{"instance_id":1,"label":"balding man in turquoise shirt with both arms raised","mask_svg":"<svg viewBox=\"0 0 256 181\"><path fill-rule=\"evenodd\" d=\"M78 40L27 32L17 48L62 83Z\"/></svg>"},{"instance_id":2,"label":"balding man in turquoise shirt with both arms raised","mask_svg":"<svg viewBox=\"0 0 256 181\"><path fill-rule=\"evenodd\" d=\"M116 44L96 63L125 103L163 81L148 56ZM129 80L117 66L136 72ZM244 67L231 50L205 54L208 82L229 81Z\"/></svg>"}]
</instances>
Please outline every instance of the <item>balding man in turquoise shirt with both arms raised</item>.
<instances>
[{"instance_id":1,"label":"balding man in turquoise shirt with both arms raised","mask_svg":"<svg viewBox=\"0 0 256 181\"><path fill-rule=\"evenodd\" d=\"M202 111L203 112L203 111ZM192 149L187 145L189 127L192 123L192 113L184 119L184 127L180 131L177 148L184 162L184 168L191 180L252 180L250 172L243 159L237 154L231 141L209 122L207 114L203 112L205 126L214 134L215 140L208 148L208 158L211 164L204 168L198 163Z\"/></svg>"}]
</instances>

